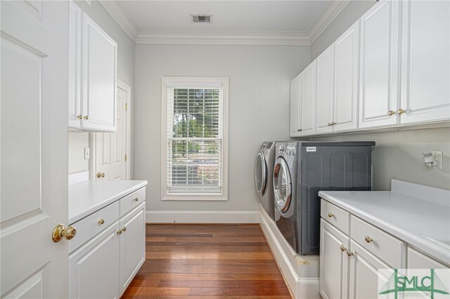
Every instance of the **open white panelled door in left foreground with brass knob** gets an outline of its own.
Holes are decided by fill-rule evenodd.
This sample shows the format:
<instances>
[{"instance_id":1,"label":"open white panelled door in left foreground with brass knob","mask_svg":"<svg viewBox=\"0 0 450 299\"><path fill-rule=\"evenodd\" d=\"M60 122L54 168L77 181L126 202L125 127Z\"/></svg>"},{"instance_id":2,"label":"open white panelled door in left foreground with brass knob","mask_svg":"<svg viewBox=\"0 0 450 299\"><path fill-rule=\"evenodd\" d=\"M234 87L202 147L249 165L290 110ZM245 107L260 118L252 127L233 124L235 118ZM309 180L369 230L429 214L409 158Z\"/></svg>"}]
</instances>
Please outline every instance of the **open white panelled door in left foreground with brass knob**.
<instances>
[{"instance_id":1,"label":"open white panelled door in left foreground with brass knob","mask_svg":"<svg viewBox=\"0 0 450 299\"><path fill-rule=\"evenodd\" d=\"M0 296L67 298L69 3L0 5Z\"/></svg>"}]
</instances>

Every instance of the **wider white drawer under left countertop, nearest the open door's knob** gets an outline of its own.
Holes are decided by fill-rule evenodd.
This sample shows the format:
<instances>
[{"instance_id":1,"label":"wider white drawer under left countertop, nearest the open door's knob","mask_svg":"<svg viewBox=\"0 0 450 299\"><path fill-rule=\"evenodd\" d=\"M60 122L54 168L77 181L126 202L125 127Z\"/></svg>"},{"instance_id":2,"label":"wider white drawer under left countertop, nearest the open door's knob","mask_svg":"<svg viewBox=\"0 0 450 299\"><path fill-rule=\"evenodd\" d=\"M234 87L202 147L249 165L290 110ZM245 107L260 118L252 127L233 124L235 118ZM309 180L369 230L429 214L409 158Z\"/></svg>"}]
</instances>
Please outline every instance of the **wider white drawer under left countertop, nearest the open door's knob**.
<instances>
[{"instance_id":1,"label":"wider white drawer under left countertop, nearest the open door's knob","mask_svg":"<svg viewBox=\"0 0 450 299\"><path fill-rule=\"evenodd\" d=\"M103 219L103 224L101 220ZM99 211L78 220L73 227L77 229L77 235L69 242L69 253L75 251L79 246L82 246L86 241L96 236L96 234L105 230L115 221L119 220L119 202L105 206Z\"/></svg>"}]
</instances>

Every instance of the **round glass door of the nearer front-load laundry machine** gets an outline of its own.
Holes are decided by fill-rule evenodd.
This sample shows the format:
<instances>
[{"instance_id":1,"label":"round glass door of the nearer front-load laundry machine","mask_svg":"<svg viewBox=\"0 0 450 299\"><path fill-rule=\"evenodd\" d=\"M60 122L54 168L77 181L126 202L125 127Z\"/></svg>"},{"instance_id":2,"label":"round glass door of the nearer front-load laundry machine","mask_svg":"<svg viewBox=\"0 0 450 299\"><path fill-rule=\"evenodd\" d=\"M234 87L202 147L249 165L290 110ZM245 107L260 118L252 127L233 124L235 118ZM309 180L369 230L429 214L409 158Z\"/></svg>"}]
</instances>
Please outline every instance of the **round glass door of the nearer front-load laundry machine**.
<instances>
[{"instance_id":1,"label":"round glass door of the nearer front-load laundry machine","mask_svg":"<svg viewBox=\"0 0 450 299\"><path fill-rule=\"evenodd\" d=\"M280 213L284 214L290 206L292 198L292 181L290 179L290 171L286 160L278 157L274 166L274 193L275 205Z\"/></svg>"}]
</instances>

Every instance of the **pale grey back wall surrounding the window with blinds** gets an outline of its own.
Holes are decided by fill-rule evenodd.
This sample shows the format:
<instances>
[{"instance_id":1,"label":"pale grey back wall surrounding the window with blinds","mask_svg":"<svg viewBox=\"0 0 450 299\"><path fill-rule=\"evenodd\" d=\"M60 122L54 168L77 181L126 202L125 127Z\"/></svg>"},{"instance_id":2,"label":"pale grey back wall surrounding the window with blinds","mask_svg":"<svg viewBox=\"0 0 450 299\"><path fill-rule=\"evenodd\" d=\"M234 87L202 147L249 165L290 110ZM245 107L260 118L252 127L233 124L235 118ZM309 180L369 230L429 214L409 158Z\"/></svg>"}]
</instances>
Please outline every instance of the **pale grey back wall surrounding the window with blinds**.
<instances>
[{"instance_id":1,"label":"pale grey back wall surrounding the window with blinds","mask_svg":"<svg viewBox=\"0 0 450 299\"><path fill-rule=\"evenodd\" d=\"M257 211L254 163L264 140L289 133L290 80L310 47L136 45L134 178L153 211ZM161 201L161 77L229 77L229 200Z\"/></svg>"}]
</instances>

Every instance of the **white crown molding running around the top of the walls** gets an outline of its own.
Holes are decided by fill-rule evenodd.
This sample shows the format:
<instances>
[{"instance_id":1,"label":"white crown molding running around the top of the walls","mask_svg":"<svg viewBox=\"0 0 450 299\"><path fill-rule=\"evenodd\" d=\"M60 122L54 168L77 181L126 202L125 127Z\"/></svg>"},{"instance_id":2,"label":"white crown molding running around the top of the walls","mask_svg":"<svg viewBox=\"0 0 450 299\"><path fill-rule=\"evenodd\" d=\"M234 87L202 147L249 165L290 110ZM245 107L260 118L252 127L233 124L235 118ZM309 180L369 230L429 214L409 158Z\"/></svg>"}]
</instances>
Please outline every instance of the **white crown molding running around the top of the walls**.
<instances>
[{"instance_id":1,"label":"white crown molding running around the top of the walls","mask_svg":"<svg viewBox=\"0 0 450 299\"><path fill-rule=\"evenodd\" d=\"M98 0L135 44L213 44L311 46L352 0L332 0L306 32L155 31L138 30L117 0Z\"/></svg>"}]
</instances>

